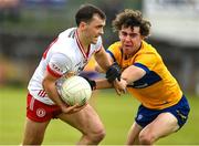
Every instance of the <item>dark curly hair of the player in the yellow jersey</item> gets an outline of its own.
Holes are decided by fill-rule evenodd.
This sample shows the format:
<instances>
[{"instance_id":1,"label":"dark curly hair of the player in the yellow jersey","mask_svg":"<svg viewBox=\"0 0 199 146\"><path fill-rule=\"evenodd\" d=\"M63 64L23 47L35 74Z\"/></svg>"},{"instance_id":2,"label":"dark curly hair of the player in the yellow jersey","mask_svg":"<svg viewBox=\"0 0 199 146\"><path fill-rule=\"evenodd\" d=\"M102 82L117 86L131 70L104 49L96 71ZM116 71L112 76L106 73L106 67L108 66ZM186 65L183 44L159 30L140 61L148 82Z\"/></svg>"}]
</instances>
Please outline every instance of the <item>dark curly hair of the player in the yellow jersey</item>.
<instances>
[{"instance_id":1,"label":"dark curly hair of the player in the yellow jersey","mask_svg":"<svg viewBox=\"0 0 199 146\"><path fill-rule=\"evenodd\" d=\"M118 13L112 22L114 31L122 30L122 27L132 29L134 27L140 28L140 34L148 36L150 33L150 22L143 19L142 12L138 10L125 9L123 12Z\"/></svg>"}]
</instances>

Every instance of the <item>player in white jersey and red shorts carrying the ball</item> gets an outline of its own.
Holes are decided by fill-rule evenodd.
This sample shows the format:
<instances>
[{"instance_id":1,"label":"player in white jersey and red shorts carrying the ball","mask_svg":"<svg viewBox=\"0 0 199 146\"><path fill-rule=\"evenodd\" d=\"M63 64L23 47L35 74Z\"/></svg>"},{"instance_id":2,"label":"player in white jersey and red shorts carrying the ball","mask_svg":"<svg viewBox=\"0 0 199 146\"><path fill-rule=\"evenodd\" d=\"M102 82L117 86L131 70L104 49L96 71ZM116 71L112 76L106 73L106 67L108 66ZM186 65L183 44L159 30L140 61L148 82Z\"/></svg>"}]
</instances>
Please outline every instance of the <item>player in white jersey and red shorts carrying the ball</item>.
<instances>
[{"instance_id":1,"label":"player in white jersey and red shorts carrying the ball","mask_svg":"<svg viewBox=\"0 0 199 146\"><path fill-rule=\"evenodd\" d=\"M82 133L80 145L98 144L105 136L104 126L90 104L69 106L56 90L63 76L70 72L77 75L93 54L105 71L111 69L114 82L118 76L102 44L101 35L106 20L104 12L86 4L78 9L75 19L77 28L60 33L43 53L30 80L23 145L41 145L52 118L60 118L78 129Z\"/></svg>"}]
</instances>

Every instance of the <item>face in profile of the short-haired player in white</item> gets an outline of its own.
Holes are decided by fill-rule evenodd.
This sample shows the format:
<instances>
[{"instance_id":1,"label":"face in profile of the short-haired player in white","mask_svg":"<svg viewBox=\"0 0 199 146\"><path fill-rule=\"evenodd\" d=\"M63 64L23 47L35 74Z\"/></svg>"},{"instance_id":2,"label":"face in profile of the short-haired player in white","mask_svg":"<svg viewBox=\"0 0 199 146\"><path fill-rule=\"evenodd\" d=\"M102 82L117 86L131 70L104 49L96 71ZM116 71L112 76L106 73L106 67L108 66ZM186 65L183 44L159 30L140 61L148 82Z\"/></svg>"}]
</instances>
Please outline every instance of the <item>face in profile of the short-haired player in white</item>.
<instances>
[{"instance_id":1,"label":"face in profile of the short-haired player in white","mask_svg":"<svg viewBox=\"0 0 199 146\"><path fill-rule=\"evenodd\" d=\"M100 35L104 34L105 20L102 20L97 14L93 15L91 22L85 27L85 36L90 43L96 43Z\"/></svg>"}]
</instances>

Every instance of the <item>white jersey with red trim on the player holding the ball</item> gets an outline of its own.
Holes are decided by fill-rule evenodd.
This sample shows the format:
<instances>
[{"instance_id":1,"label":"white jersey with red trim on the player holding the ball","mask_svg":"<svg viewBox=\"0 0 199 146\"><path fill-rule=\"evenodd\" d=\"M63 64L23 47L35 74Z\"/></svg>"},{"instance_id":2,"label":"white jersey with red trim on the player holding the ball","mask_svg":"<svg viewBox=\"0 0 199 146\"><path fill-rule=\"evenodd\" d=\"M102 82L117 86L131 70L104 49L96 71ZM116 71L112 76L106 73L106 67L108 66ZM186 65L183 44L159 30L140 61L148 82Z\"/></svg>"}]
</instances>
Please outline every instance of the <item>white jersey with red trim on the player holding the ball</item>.
<instances>
[{"instance_id":1,"label":"white jersey with red trim on the player holding the ball","mask_svg":"<svg viewBox=\"0 0 199 146\"><path fill-rule=\"evenodd\" d=\"M67 72L80 74L92 54L101 49L101 36L98 36L96 44L90 45L88 53L85 53L78 40L76 28L71 28L60 33L43 53L43 58L29 82L28 90L30 94L42 103L53 105L53 101L48 96L42 86L45 71L59 77L59 80Z\"/></svg>"}]
</instances>

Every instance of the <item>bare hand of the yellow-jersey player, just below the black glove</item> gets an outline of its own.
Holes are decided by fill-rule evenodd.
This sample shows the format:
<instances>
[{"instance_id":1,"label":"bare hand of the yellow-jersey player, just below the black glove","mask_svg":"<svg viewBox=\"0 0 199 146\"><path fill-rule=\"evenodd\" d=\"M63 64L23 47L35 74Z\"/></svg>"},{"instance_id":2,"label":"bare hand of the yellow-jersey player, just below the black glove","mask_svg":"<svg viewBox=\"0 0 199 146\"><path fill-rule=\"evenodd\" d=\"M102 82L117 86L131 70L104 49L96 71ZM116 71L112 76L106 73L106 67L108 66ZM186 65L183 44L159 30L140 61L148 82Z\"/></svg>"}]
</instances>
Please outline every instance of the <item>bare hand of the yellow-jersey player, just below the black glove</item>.
<instances>
[{"instance_id":1,"label":"bare hand of the yellow-jersey player, just below the black glove","mask_svg":"<svg viewBox=\"0 0 199 146\"><path fill-rule=\"evenodd\" d=\"M118 81L117 79L113 82L114 88L116 91L116 93L118 95L121 94L125 94L126 93L126 86L127 83L125 80L121 79L121 81Z\"/></svg>"}]
</instances>

